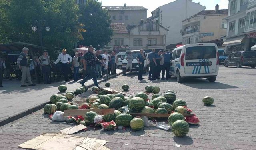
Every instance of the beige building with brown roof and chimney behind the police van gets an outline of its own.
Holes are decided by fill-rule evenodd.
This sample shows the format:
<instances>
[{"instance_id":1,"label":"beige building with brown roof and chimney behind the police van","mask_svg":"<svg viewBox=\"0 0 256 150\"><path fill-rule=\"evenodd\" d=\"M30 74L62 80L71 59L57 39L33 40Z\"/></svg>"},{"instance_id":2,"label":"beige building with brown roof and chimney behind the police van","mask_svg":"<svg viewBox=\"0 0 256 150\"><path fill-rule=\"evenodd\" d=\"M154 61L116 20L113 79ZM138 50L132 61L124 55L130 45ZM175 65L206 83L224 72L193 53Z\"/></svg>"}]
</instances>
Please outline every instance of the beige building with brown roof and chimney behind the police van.
<instances>
[{"instance_id":1,"label":"beige building with brown roof and chimney behind the police van","mask_svg":"<svg viewBox=\"0 0 256 150\"><path fill-rule=\"evenodd\" d=\"M182 21L182 44L221 40L227 33L227 22L223 20L227 16L228 10L219 10L217 4L215 10L202 10L186 18Z\"/></svg>"}]
</instances>

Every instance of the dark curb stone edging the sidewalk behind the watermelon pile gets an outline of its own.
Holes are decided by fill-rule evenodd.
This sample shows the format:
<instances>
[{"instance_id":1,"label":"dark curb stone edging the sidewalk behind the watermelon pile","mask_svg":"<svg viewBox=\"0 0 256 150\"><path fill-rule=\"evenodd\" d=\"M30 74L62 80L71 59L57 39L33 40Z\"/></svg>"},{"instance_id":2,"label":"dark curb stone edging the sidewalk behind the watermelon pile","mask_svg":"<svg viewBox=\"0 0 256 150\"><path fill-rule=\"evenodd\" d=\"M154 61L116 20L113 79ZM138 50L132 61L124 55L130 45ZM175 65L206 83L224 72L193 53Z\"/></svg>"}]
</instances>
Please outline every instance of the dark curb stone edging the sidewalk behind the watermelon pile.
<instances>
[{"instance_id":1,"label":"dark curb stone edging the sidewalk behind the watermelon pile","mask_svg":"<svg viewBox=\"0 0 256 150\"><path fill-rule=\"evenodd\" d=\"M114 78L114 77L116 77L116 76L119 76L120 74L122 74L122 72L120 72L120 73L118 73L118 74L115 74L115 75L111 76L110 78L105 78L105 79L99 81L98 83L102 83L102 82L105 82L105 81L107 81L107 80L110 80L110 79L112 79L112 78ZM90 84L90 85L88 85L87 87L88 87L88 88L91 88L91 87L93 87L93 86L94 86L94 84ZM14 114L14 115L12 115L12 116L5 117L4 119L0 119L0 127L1 127L1 126L4 126L4 125L6 125L6 124L8 124L8 123L10 123L10 122L13 122L13 121L15 121L15 120L18 120L18 119L20 119L20 118L22 118L22 117L24 117L24 116L27 116L27 115L29 115L29 114L32 114L33 112L36 112L36 111L38 111L38 110L44 108L44 106L45 106L46 104L50 104L50 103L51 103L50 101L46 101L46 102L44 102L44 103L41 103L41 104L32 106L32 107L30 107L30 108L26 108L26 109L22 110L22 112L20 112L20 113L18 113L18 114Z\"/></svg>"}]
</instances>

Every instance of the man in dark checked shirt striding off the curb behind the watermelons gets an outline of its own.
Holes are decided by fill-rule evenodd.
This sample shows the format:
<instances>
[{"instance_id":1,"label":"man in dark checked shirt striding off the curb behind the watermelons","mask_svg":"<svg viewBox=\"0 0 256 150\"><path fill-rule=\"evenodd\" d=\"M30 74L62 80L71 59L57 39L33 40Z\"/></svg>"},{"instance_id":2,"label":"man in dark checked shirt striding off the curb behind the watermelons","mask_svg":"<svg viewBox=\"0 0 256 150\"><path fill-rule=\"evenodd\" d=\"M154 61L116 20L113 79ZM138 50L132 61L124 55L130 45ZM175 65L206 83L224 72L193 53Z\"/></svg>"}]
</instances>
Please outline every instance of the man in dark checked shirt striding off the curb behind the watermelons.
<instances>
[{"instance_id":1,"label":"man in dark checked shirt striding off the curb behind the watermelons","mask_svg":"<svg viewBox=\"0 0 256 150\"><path fill-rule=\"evenodd\" d=\"M84 55L84 70L87 70L87 76L80 82L82 86L84 86L84 83L88 81L90 78L93 79L94 86L99 87L97 82L97 75L96 75L96 61L101 62L94 54L93 54L93 47L90 45L87 47L88 53ZM87 67L86 67L87 66Z\"/></svg>"}]
</instances>

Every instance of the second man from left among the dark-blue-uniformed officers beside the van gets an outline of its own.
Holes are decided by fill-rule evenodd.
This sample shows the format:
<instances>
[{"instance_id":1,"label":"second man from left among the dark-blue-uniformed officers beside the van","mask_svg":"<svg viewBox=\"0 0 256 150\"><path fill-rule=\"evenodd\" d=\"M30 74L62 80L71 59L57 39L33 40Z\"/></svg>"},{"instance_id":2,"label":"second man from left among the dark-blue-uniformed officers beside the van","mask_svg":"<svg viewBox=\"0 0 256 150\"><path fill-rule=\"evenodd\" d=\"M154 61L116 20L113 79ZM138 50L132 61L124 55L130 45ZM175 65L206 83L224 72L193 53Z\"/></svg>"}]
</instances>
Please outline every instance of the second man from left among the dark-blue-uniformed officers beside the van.
<instances>
[{"instance_id":1,"label":"second man from left among the dark-blue-uniformed officers beside the van","mask_svg":"<svg viewBox=\"0 0 256 150\"><path fill-rule=\"evenodd\" d=\"M155 49L152 49L152 52L148 54L149 59L149 72L148 72L148 80L156 80L156 59L155 59Z\"/></svg>"}]
</instances>

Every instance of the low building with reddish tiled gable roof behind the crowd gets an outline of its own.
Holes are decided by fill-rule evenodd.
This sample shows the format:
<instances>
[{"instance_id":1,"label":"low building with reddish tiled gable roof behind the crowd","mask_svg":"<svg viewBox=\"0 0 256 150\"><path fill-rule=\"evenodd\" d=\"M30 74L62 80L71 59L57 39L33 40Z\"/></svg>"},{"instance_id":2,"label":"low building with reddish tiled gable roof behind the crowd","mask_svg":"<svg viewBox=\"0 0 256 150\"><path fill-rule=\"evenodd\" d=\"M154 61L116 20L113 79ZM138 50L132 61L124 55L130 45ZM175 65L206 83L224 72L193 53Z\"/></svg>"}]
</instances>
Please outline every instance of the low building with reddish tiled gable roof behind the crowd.
<instances>
[{"instance_id":1,"label":"low building with reddish tiled gable roof behind the crowd","mask_svg":"<svg viewBox=\"0 0 256 150\"><path fill-rule=\"evenodd\" d=\"M111 24L114 30L112 41L106 50L125 52L126 50L163 50L166 46L168 29L150 20L138 26L127 28L124 24Z\"/></svg>"}]
</instances>

